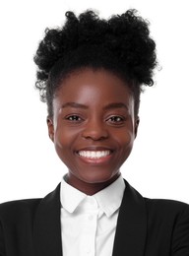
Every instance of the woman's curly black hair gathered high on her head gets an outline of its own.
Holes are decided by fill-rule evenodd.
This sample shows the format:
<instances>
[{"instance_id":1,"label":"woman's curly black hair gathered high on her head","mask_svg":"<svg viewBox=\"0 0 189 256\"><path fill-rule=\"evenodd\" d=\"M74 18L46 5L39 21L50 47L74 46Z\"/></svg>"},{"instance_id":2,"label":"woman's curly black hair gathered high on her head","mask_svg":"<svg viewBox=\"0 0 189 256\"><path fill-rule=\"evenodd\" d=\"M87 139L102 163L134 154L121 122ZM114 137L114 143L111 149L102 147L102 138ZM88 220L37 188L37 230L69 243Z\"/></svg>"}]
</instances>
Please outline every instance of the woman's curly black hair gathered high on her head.
<instances>
[{"instance_id":1,"label":"woman's curly black hair gathered high on her head","mask_svg":"<svg viewBox=\"0 0 189 256\"><path fill-rule=\"evenodd\" d=\"M103 68L122 78L135 98L138 114L143 86L153 86L157 66L156 43L150 37L147 20L130 9L108 20L93 10L78 17L66 12L62 28L46 29L34 56L38 67L35 88L53 115L53 96L62 80L83 68Z\"/></svg>"}]
</instances>

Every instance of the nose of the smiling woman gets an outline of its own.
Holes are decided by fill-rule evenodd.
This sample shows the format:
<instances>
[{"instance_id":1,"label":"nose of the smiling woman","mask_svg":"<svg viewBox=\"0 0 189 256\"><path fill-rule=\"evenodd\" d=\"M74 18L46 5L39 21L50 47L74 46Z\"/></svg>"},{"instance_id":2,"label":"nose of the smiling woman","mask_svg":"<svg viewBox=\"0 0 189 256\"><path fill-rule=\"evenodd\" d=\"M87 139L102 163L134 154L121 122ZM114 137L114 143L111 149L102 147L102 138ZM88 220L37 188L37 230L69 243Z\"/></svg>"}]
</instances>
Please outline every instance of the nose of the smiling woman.
<instances>
[{"instance_id":1,"label":"nose of the smiling woman","mask_svg":"<svg viewBox=\"0 0 189 256\"><path fill-rule=\"evenodd\" d=\"M91 120L86 124L82 136L85 139L91 139L94 141L107 139L107 127L105 127L105 123L103 122Z\"/></svg>"}]
</instances>

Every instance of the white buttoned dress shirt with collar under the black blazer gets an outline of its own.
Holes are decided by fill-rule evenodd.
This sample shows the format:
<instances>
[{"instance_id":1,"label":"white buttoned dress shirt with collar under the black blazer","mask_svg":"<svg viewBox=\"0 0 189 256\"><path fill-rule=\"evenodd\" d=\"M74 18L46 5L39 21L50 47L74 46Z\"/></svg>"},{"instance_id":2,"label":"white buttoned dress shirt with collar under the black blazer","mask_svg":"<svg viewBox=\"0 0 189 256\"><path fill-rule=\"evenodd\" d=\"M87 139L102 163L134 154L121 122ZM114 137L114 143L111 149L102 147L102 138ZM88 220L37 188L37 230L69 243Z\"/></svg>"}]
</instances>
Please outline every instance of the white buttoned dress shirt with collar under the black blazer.
<instances>
[{"instance_id":1,"label":"white buttoned dress shirt with collar under the black blazer","mask_svg":"<svg viewBox=\"0 0 189 256\"><path fill-rule=\"evenodd\" d=\"M117 217L125 182L119 176L108 187L88 196L61 182L63 256L112 255Z\"/></svg>"}]
</instances>

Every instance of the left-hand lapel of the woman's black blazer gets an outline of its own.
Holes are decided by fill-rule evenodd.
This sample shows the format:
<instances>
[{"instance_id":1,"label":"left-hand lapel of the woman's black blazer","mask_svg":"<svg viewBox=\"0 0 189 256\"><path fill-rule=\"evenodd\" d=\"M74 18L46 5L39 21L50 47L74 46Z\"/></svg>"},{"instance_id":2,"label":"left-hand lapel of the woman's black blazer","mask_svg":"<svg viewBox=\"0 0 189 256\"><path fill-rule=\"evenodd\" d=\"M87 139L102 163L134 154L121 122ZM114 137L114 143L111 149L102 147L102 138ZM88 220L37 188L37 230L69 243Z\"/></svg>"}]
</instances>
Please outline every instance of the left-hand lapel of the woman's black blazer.
<instances>
[{"instance_id":1,"label":"left-hand lapel of the woman's black blazer","mask_svg":"<svg viewBox=\"0 0 189 256\"><path fill-rule=\"evenodd\" d=\"M62 256L60 226L60 184L41 200L34 218L36 256Z\"/></svg>"}]
</instances>

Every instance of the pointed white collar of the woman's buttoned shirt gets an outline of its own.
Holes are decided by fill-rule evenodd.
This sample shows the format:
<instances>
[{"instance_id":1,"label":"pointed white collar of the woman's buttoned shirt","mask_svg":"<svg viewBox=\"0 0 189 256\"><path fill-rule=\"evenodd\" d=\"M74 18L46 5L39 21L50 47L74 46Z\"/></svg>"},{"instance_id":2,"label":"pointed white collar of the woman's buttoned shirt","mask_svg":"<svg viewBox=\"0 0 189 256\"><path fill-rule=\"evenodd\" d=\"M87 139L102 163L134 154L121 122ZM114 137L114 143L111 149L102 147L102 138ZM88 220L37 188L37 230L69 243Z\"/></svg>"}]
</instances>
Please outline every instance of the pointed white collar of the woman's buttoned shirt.
<instances>
[{"instance_id":1,"label":"pointed white collar of the woman's buttoned shirt","mask_svg":"<svg viewBox=\"0 0 189 256\"><path fill-rule=\"evenodd\" d=\"M69 213L74 213L76 208L87 197L94 197L99 209L105 213L108 218L119 209L125 190L125 182L121 175L113 183L93 196L88 196L69 185L65 181L65 177L66 175L61 181L60 201L62 207Z\"/></svg>"}]
</instances>

